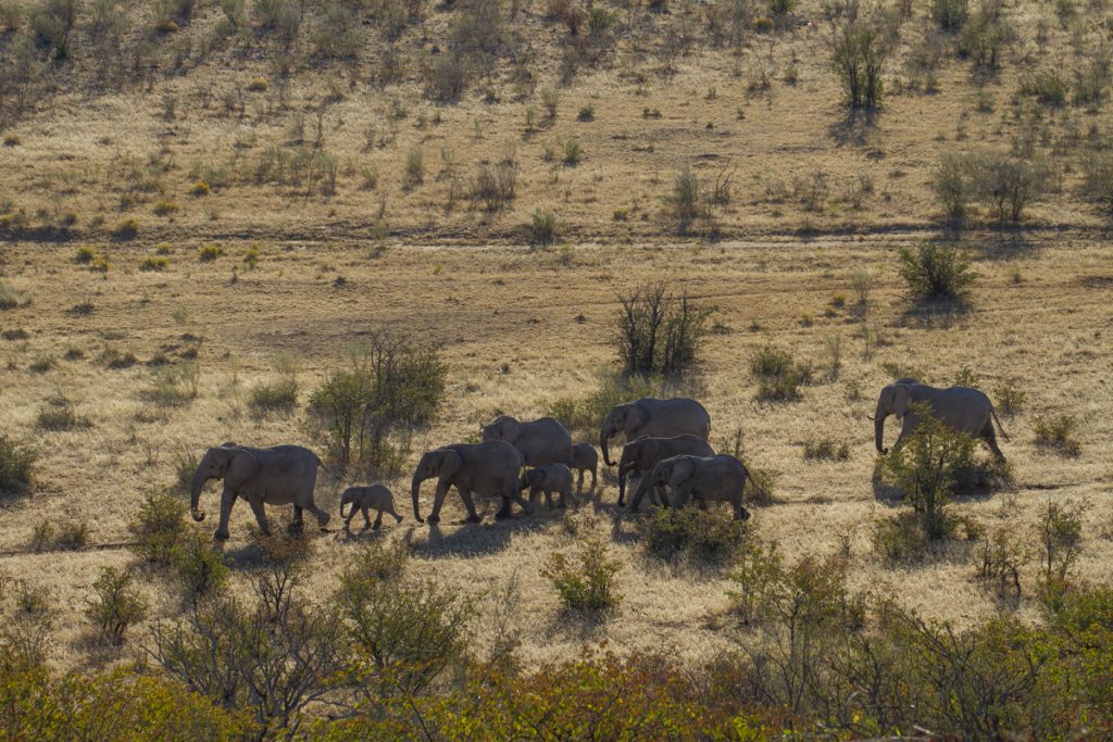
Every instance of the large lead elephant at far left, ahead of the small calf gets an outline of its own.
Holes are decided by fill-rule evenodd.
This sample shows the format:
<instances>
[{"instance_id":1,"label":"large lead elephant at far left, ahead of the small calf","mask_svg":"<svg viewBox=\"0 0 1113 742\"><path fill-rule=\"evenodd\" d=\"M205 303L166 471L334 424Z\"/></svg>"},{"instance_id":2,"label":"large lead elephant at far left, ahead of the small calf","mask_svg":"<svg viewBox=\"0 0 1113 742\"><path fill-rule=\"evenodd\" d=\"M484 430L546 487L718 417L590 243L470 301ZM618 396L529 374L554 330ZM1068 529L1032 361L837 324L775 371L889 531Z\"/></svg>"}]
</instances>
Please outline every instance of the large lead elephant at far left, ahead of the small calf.
<instances>
[{"instance_id":1,"label":"large lead elephant at far left, ahead of the small calf","mask_svg":"<svg viewBox=\"0 0 1113 742\"><path fill-rule=\"evenodd\" d=\"M274 446L273 448L250 448L224 443L206 452L194 474L190 488L189 512L198 523L205 513L198 508L201 488L209 479L224 479L220 495L220 523L214 534L217 541L228 540L228 518L236 498L242 497L252 506L259 531L270 533L264 505L294 504L294 522L290 527L302 527L302 511L308 509L317 516L317 525L323 530L328 524L328 513L313 502L313 487L317 482L317 466L321 459L302 446Z\"/></svg>"}]
</instances>

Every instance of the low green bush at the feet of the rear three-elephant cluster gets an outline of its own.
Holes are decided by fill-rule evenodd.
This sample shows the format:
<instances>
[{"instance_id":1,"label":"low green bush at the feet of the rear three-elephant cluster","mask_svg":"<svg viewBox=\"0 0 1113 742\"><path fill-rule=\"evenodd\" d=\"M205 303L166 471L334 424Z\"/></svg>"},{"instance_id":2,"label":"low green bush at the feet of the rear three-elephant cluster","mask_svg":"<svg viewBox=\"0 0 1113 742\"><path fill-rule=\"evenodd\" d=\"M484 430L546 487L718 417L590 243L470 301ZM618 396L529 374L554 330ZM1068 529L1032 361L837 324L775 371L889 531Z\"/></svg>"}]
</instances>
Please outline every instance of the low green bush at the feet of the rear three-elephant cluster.
<instances>
[{"instance_id":1,"label":"low green bush at the feet of the rear three-elephant cluster","mask_svg":"<svg viewBox=\"0 0 1113 742\"><path fill-rule=\"evenodd\" d=\"M725 564L745 537L746 526L695 507L656 508L637 523L646 551L661 560L690 560L697 564Z\"/></svg>"}]
</instances>

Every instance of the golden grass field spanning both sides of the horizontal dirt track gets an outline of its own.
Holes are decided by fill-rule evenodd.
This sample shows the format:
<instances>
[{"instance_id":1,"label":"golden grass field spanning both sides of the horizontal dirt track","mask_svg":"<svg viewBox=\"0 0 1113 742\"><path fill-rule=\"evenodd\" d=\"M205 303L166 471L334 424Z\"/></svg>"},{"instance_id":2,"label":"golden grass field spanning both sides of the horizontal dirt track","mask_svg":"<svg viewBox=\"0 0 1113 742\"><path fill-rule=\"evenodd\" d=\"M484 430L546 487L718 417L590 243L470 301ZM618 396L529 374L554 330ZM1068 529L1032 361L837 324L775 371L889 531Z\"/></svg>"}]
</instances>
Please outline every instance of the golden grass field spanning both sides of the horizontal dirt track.
<instances>
[{"instance_id":1,"label":"golden grass field spanning both sides of the horizontal dirt track","mask_svg":"<svg viewBox=\"0 0 1113 742\"><path fill-rule=\"evenodd\" d=\"M965 366L989 392L1014 379L1027 392L1025 407L1003 418L1016 486L956 508L1023 532L1048 498L1085 503L1078 575L1093 583L1113 577L1113 263L1107 220L1080 194L1075 164L1080 142L1107 140L1109 107L1048 109L1017 92L1024 75L1074 69L1103 43L1101 4L1093 4L1061 19L1046 3L1008 3L1016 40L999 73L979 85L968 63L948 55L935 73L938 91L926 95L915 90L922 73L910 72L908 60L930 19L927 3L913 3L886 70L893 92L868 125L847 119L818 2L801 3L797 22L781 31L749 34L738 50L709 42L696 3L667 14L631 12L603 61L583 66L568 87L558 85L567 32L545 20L540 3L524 3L509 24L524 39L521 57L535 86L523 92L512 85L513 66L503 59L490 83L493 103L482 100L479 81L455 105L422 96L420 69L455 13L445 7L427 9L425 24L405 31L397 42L402 79L385 87L375 82L386 47L373 21L361 31L367 41L357 61L341 63L315 56L305 32L288 51L267 37L225 39L215 30L219 11L199 3L188 24L160 39L157 70L139 81L120 73L119 86L107 81L119 70L98 58L79 24L76 44L85 52L69 66L45 65L35 102L0 132L0 217L9 229L0 230L0 269L21 301L0 311L0 325L27 334L0 340L0 428L41 452L30 493L2 509L0 570L51 596L61 665L102 661L87 641L85 602L101 566L134 560L118 544L128 541L127 523L144 496L174 486L176 456L229 439L319 451L305 426L308 392L362 337L386 329L441 344L450 364L436 422L414 441L416 461L425 448L476 435L499 413L529 418L556 398L590 394L615 365L609 340L617 296L668 280L716 307L712 321L722 326L707 340L695 380L711 414L712 445L727 448L740 429L747 463L776 473L775 502L754 508L759 533L789 560L831 553L848 536L851 585L893 592L927 616L965 625L1004 610L1038 620L1032 591L1002 604L976 582L966 547L902 568L873 554L871 524L892 506L871 487L866 415L892 380L886 363L917 368L939 385ZM146 8L128 12L137 24L154 20ZM670 28L688 28L695 41L663 75ZM1041 32L1046 38L1037 43ZM183 39L179 72L170 57ZM6 31L0 61L13 49ZM280 55L293 60L288 77L276 71ZM786 81L790 68L795 82ZM759 85L762 70L768 88ZM252 91L256 78L265 85ZM545 88L560 95L551 121L540 102ZM578 120L588 106L592 120ZM538 122L528 130L530 108ZM295 136L298 122L304 133ZM302 137L304 145L292 144ZM969 311L909 314L896 254L938 234L932 182L940 154L1008 150L1025 138L1056 164L1055 187L1015 229L982 228L988 215L973 216L977 228L964 238L978 274ZM574 166L560 162L568 139L582 146ZM335 192L319 181L257 182L270 147L335 158ZM546 148L556 151L554 161ZM405 186L406 160L416 151L422 182ZM502 158L518 162L516 197L489 214L461 194L483 165ZM707 184L732 177L713 228L701 224L696 235L678 234L669 216L686 164ZM818 208L806 207L794 194L817 174L827 189ZM195 194L207 179L208 192ZM555 216L558 245L526 246L536 209ZM112 239L127 219L137 235ZM42 239L29 239L35 235ZM199 260L206 244L224 255ZM80 245L104 255L107 273L75 260ZM259 260L249 269L244 256L253 245ZM168 264L142 271L147 257ZM865 319L850 309L856 269L874 277ZM845 306L834 304L836 296ZM863 325L876 338L868 352ZM828 378L833 337L841 342L841 368ZM756 400L749 360L770 343L815 365L802 400ZM150 402L154 372L145 362L188 348L198 352L197 398L177 407ZM106 349L132 353L139 363L109 369L100 360ZM256 418L247 393L273 378L280 354L299 362L303 404L288 417ZM59 394L91 427L36 427L39 410ZM1046 410L1076 416L1078 457L1034 444L1033 417ZM890 442L893 427L890 421ZM802 445L817 437L848 442L850 459L806 462ZM569 621L541 575L548 555L572 544L560 515L494 524L489 512L482 525L461 526L454 521L463 509L450 495L449 517L431 530L413 522L407 477L388 484L406 516L401 526L387 518L378 534L346 536L336 517L342 485L318 479L317 502L334 520L314 536L307 592L315 598L334 590L361 542L406 537L421 573L465 594L516 583L526 663L601 641L621 652L671 647L701 661L738 641L725 575L644 557L631 518L615 509L613 476L574 515L594 514L581 528L605 536L623 563L624 600L600 623ZM210 520L196 526L206 532L217 508L214 487L203 496ZM432 491L426 483L426 513ZM89 546L31 552L35 526L63 516L88 523ZM227 545L233 557L243 555L253 521L240 503ZM144 586L156 606L147 624L179 611L160 581ZM487 615L493 603L481 597ZM144 641L142 631L134 636Z\"/></svg>"}]
</instances>

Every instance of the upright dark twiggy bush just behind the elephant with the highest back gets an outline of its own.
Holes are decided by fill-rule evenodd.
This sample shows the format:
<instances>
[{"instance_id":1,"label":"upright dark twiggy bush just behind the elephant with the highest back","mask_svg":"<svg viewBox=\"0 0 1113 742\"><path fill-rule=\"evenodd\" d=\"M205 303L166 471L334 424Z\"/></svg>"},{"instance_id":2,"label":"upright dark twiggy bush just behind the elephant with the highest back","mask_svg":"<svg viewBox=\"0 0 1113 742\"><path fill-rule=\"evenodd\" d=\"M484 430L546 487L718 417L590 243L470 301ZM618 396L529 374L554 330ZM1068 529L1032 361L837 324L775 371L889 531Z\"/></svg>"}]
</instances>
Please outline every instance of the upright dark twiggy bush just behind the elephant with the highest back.
<instances>
[{"instance_id":1,"label":"upright dark twiggy bush just behind the elephant with the highest back","mask_svg":"<svg viewBox=\"0 0 1113 742\"><path fill-rule=\"evenodd\" d=\"M712 310L695 306L687 291L666 284L639 286L619 295L614 345L622 373L677 376L697 365Z\"/></svg>"}]
</instances>

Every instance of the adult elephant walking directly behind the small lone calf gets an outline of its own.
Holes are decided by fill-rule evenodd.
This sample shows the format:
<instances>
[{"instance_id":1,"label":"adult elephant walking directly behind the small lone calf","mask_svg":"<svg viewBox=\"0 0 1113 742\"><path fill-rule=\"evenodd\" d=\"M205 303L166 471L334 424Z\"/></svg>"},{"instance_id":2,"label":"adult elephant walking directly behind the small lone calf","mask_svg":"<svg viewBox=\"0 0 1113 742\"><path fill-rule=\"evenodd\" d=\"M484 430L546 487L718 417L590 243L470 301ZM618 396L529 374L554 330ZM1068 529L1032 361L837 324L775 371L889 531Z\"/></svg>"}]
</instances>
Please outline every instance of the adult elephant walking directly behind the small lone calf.
<instances>
[{"instance_id":1,"label":"adult elephant walking directly behind the small lone calf","mask_svg":"<svg viewBox=\"0 0 1113 742\"><path fill-rule=\"evenodd\" d=\"M436 495L433 499L433 512L430 523L441 520L441 506L449 487L455 486L460 498L467 508L467 523L479 523L483 518L475 512L472 493L498 496L502 498L502 507L495 513L495 518L510 517L511 501L516 501L526 514L533 513L519 494L518 476L525 466L522 454L514 446L502 441L484 441L483 443L454 443L433 451L425 452L417 463L413 478L414 517L418 523L421 517L417 506L417 495L422 482L436 477Z\"/></svg>"}]
</instances>

